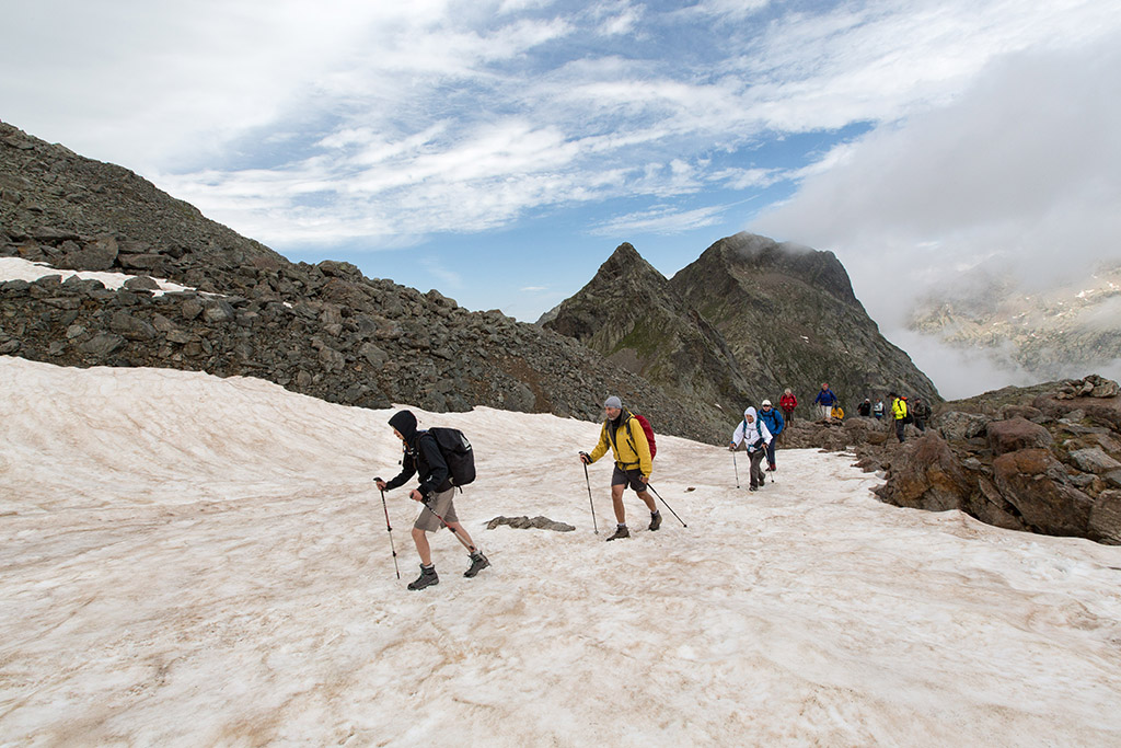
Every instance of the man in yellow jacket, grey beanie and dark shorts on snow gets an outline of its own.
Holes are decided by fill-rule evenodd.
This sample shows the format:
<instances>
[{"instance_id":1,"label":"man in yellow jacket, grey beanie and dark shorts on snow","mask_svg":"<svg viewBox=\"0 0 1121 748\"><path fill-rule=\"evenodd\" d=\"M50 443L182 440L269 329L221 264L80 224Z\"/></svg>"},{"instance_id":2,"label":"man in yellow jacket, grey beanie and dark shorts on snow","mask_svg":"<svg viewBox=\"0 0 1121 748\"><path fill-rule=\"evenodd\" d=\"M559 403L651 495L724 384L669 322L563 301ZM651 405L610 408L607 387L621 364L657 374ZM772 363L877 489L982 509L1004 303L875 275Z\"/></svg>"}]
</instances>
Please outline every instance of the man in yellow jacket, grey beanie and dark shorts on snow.
<instances>
[{"instance_id":1,"label":"man in yellow jacket, grey beanie and dark shorts on snow","mask_svg":"<svg viewBox=\"0 0 1121 748\"><path fill-rule=\"evenodd\" d=\"M603 404L603 413L606 418L600 430L600 442L591 454L581 452L580 460L590 465L606 454L609 447L615 458L615 468L611 471L611 505L615 510L617 525L614 535L608 539L630 537L627 509L623 507L623 491L627 487L646 504L650 510L650 529L656 530L661 527L661 512L646 488L650 482L650 473L654 472L654 456L650 454L646 430L636 415L623 412L622 400L614 395Z\"/></svg>"}]
</instances>

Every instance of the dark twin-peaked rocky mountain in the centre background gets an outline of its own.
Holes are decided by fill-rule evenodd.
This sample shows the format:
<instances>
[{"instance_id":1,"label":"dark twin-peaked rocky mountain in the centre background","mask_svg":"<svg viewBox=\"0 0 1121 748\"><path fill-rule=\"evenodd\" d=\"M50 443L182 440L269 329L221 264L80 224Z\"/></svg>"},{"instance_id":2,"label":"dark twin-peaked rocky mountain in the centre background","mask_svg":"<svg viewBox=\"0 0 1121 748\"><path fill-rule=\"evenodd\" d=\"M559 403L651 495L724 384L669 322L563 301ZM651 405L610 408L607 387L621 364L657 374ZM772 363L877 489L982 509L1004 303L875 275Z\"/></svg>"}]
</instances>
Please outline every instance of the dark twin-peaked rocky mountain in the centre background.
<instances>
[{"instance_id":1,"label":"dark twin-peaked rocky mountain in the centre background","mask_svg":"<svg viewBox=\"0 0 1121 748\"><path fill-rule=\"evenodd\" d=\"M686 400L735 416L790 387L806 406L828 381L846 405L890 389L938 400L880 334L832 252L740 233L673 278L621 244L538 322ZM804 408L804 413L808 413Z\"/></svg>"}]
</instances>

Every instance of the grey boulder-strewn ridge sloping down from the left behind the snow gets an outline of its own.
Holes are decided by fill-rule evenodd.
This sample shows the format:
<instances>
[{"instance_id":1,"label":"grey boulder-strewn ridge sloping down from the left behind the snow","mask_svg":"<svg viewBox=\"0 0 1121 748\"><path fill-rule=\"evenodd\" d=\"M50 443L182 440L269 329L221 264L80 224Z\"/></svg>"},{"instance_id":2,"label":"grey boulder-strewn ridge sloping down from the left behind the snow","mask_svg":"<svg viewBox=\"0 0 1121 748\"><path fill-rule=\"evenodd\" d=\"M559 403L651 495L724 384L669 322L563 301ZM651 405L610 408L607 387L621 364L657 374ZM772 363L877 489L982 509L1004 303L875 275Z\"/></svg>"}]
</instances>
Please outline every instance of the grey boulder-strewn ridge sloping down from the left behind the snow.
<instances>
[{"instance_id":1,"label":"grey boulder-strewn ridge sloping down from the left behind the snow","mask_svg":"<svg viewBox=\"0 0 1121 748\"><path fill-rule=\"evenodd\" d=\"M128 169L0 123L3 256L135 278L111 289L45 269L0 284L0 353L252 376L364 407L595 418L614 393L660 431L712 438L686 406L568 338L348 262L290 262ZM152 278L187 290L156 293Z\"/></svg>"}]
</instances>

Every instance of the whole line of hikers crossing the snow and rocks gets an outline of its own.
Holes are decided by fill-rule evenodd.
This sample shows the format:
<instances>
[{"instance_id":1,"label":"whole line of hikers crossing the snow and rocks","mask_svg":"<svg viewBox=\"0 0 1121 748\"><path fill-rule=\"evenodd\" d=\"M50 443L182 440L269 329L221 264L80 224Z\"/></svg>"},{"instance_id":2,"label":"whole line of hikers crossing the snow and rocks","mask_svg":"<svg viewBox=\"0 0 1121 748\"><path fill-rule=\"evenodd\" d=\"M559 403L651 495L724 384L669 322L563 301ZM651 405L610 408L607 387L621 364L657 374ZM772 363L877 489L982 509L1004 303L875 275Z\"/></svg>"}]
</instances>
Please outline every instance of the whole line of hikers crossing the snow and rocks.
<instances>
[{"instance_id":1,"label":"whole line of hikers crossing the snow and rocks","mask_svg":"<svg viewBox=\"0 0 1121 748\"><path fill-rule=\"evenodd\" d=\"M890 412L900 442L904 441L906 424L915 423L918 428L925 428L925 421L929 418L930 414L929 406L920 404L918 399L916 399L915 406L909 406L906 397L899 397L895 393L891 393L889 397L891 399ZM824 419L834 417L835 413L840 410L837 396L830 389L827 382L822 385L822 390L814 399L814 404L821 408L821 415ZM775 408L770 400L765 399L759 405L758 410L753 406L744 409L743 421L736 424L729 443L735 468L736 488L740 488L739 467L735 463L738 452L747 452L749 458L749 490L757 491L762 488L767 482L767 473L771 473L771 482L773 482L773 473L778 470L776 462L778 436L786 430L787 424L794 422L797 407L798 398L787 388L779 398L779 408ZM591 452L578 453L580 461L584 464L589 500L592 502L592 523L596 534L599 527L595 525L595 502L592 500L592 484L587 474L587 465L597 462L608 454L609 450L614 459L611 471L611 506L615 515L615 530L606 538L608 541L631 536L627 525L627 508L623 505L627 489L633 491L649 510L648 530L657 532L661 527L661 512L658 510L655 496L682 521L680 517L677 517L673 508L658 496L658 492L650 484L654 459L658 452L650 422L645 416L636 415L626 409L622 400L615 396L611 396L604 401L603 413L604 418L600 426L599 442ZM878 403L873 409L871 399L865 399L858 407L858 413L864 417L872 413L876 414L877 418L882 417L883 404L882 401ZM463 487L475 478L474 452L471 443L462 432L454 428L420 430L416 416L409 410L399 410L393 414L389 419L389 425L393 435L401 442L401 472L391 480L376 478L374 482L381 491L382 508L386 512L386 529L390 533L391 548L392 527L389 521L389 509L386 505L386 491L400 488L416 477L417 486L409 491L409 498L423 505L416 521L413 524L413 543L420 556L420 575L408 584L408 589L423 590L439 583L439 575L432 561L428 533L435 533L444 527L450 529L467 551L470 565L463 575L469 579L474 578L479 572L490 566L490 560L479 550L471 535L460 523L454 502L456 491L462 492ZM765 459L767 460L766 470L762 467ZM682 525L687 527L684 521ZM396 566L396 548L392 548L392 552ZM397 575L400 578L399 571Z\"/></svg>"}]
</instances>

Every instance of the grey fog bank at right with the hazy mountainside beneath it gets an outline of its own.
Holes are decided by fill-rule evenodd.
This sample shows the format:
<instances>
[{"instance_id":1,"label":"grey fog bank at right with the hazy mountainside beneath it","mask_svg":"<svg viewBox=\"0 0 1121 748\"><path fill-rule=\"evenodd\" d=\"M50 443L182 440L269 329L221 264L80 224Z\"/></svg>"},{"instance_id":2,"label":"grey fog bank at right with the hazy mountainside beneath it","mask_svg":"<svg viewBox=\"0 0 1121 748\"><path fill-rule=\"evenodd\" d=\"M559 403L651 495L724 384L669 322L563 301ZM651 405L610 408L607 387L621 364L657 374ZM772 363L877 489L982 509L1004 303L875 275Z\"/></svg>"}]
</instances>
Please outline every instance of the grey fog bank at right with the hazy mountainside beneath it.
<instances>
[{"instance_id":1,"label":"grey fog bank at right with the hazy mountainside beneath it","mask_svg":"<svg viewBox=\"0 0 1121 748\"><path fill-rule=\"evenodd\" d=\"M948 105L839 147L753 228L834 250L946 396L1118 376L1117 41L992 65Z\"/></svg>"}]
</instances>

